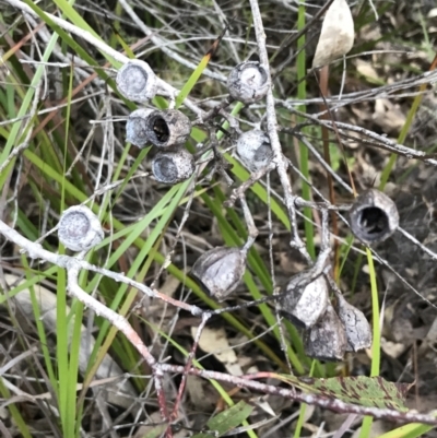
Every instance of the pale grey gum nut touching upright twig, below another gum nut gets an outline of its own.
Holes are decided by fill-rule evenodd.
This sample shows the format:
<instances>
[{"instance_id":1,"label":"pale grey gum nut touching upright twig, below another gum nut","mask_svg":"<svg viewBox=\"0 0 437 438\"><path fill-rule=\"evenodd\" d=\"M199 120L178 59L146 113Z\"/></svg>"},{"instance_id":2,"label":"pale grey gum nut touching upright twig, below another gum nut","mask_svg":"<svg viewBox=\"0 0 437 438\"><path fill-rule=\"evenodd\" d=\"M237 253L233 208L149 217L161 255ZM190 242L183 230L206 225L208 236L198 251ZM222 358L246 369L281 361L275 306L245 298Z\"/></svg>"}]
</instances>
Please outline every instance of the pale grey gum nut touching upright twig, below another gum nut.
<instances>
[{"instance_id":1,"label":"pale grey gum nut touching upright twig, below another gum nut","mask_svg":"<svg viewBox=\"0 0 437 438\"><path fill-rule=\"evenodd\" d=\"M273 157L269 135L257 129L247 131L238 138L237 153L244 165L251 171L267 166Z\"/></svg>"}]
</instances>

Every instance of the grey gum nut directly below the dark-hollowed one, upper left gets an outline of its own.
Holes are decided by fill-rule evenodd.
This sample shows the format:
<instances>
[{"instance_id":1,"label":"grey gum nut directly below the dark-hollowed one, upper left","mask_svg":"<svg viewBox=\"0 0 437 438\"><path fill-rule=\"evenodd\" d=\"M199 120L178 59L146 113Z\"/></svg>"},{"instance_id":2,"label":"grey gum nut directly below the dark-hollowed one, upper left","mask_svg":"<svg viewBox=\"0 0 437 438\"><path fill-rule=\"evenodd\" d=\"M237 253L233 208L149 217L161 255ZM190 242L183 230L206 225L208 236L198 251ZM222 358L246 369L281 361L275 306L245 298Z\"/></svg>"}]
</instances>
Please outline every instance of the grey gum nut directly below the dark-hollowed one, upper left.
<instances>
[{"instance_id":1,"label":"grey gum nut directly below the dark-hollowed one, upper left","mask_svg":"<svg viewBox=\"0 0 437 438\"><path fill-rule=\"evenodd\" d=\"M194 169L194 157L184 146L176 151L158 152L152 161L153 176L164 184L185 181Z\"/></svg>"}]
</instances>

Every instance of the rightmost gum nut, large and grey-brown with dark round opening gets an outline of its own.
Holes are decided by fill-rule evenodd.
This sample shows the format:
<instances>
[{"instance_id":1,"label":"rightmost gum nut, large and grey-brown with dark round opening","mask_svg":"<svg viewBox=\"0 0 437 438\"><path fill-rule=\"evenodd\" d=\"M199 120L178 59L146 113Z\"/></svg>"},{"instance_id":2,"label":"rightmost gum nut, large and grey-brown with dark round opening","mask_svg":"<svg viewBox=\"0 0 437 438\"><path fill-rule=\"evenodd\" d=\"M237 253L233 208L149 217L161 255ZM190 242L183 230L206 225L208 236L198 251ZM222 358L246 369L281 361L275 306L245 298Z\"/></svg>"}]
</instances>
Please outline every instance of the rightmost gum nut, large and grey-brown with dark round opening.
<instances>
[{"instance_id":1,"label":"rightmost gum nut, large and grey-brown with dark round opening","mask_svg":"<svg viewBox=\"0 0 437 438\"><path fill-rule=\"evenodd\" d=\"M359 194L352 204L349 216L352 233L367 245L386 240L399 226L394 202L377 189Z\"/></svg>"}]
</instances>

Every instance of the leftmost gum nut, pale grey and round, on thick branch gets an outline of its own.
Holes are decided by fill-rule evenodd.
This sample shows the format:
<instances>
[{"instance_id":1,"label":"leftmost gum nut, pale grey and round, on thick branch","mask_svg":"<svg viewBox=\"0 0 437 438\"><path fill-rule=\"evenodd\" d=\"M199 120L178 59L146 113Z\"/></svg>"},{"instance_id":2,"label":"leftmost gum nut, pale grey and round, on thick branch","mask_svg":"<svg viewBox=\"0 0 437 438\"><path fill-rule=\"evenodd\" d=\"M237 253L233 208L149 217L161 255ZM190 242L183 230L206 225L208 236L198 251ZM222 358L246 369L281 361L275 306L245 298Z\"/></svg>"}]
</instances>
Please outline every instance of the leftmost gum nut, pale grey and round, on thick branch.
<instances>
[{"instance_id":1,"label":"leftmost gum nut, pale grey and round, on thick branch","mask_svg":"<svg viewBox=\"0 0 437 438\"><path fill-rule=\"evenodd\" d=\"M70 206L59 221L58 237L72 251L87 251L104 238L98 217L84 205Z\"/></svg>"}]
</instances>

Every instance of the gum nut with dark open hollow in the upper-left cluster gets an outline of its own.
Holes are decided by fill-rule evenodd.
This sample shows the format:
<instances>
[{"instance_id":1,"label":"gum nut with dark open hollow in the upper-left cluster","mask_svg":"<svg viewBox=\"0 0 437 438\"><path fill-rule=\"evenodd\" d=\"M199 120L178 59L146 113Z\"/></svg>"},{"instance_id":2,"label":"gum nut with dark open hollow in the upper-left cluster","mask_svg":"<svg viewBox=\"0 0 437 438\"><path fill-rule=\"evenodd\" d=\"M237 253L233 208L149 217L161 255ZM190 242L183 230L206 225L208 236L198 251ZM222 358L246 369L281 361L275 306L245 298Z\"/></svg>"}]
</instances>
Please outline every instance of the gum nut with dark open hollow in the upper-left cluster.
<instances>
[{"instance_id":1,"label":"gum nut with dark open hollow in the upper-left cluster","mask_svg":"<svg viewBox=\"0 0 437 438\"><path fill-rule=\"evenodd\" d=\"M184 144L191 132L190 119L177 109L156 110L149 115L146 135L157 147Z\"/></svg>"}]
</instances>

